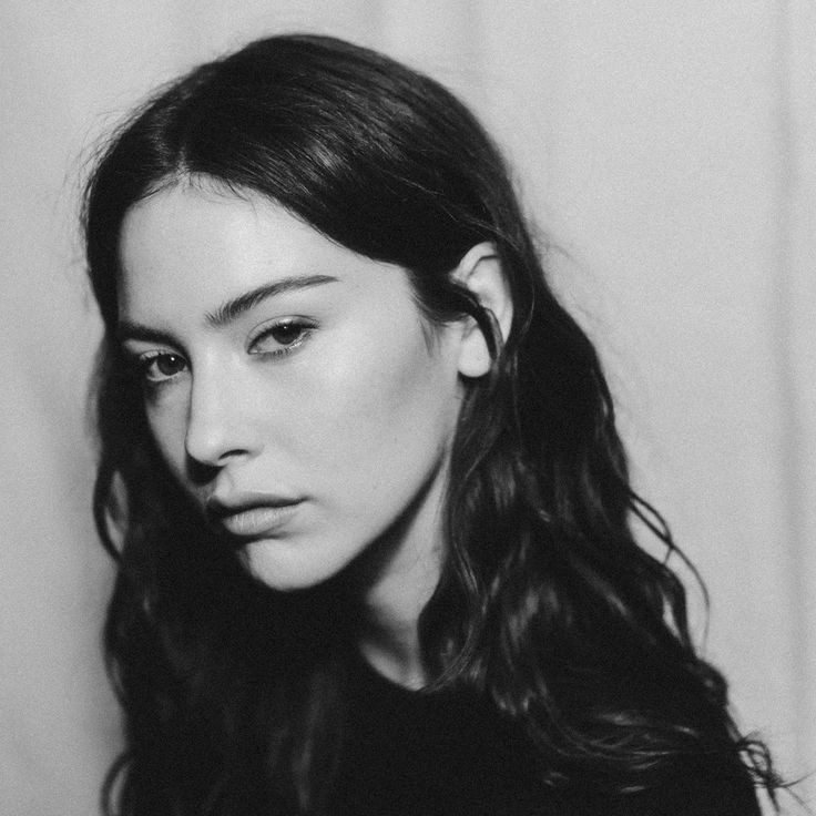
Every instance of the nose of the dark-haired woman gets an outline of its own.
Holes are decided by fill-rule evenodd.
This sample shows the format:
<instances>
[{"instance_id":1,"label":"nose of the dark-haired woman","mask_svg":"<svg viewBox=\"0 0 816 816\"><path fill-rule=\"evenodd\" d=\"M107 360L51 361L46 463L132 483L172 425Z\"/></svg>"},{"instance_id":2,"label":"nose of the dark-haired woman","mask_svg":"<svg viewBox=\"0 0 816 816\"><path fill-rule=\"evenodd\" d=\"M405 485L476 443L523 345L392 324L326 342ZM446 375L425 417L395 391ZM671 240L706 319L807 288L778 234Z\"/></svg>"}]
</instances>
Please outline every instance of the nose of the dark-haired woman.
<instances>
[{"instance_id":1,"label":"nose of the dark-haired woman","mask_svg":"<svg viewBox=\"0 0 816 816\"><path fill-rule=\"evenodd\" d=\"M256 449L239 384L211 373L193 377L184 447L198 466L221 468L234 459L249 457Z\"/></svg>"}]
</instances>

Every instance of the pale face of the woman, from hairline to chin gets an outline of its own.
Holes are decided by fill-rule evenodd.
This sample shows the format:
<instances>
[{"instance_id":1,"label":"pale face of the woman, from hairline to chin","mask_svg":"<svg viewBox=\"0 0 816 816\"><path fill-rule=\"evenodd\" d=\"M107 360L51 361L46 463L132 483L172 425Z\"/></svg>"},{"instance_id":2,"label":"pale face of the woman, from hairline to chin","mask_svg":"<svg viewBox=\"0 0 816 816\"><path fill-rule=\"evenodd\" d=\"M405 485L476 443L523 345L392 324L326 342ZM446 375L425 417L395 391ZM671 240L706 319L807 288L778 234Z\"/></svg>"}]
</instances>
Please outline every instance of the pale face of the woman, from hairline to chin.
<instances>
[{"instance_id":1,"label":"pale face of the woman, from hairline to chin","mask_svg":"<svg viewBox=\"0 0 816 816\"><path fill-rule=\"evenodd\" d=\"M252 193L164 188L120 252L150 428L248 569L304 589L387 541L438 571L462 326L429 339L404 269Z\"/></svg>"}]
</instances>

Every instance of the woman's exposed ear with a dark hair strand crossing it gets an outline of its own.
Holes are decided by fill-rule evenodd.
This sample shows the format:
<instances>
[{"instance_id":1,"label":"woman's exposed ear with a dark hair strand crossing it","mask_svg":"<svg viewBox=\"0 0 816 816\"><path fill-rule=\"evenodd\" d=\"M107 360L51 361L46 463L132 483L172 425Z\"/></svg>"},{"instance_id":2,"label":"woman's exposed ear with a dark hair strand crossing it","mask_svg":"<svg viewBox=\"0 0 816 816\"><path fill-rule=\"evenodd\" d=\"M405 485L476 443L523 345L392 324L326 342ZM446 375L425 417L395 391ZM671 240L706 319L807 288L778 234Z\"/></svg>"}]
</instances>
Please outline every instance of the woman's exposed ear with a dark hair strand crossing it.
<instances>
[{"instance_id":1,"label":"woman's exposed ear with a dark hair strand crossing it","mask_svg":"<svg viewBox=\"0 0 816 816\"><path fill-rule=\"evenodd\" d=\"M453 278L476 295L482 308L492 313L507 340L513 316L510 287L501 268L496 246L489 242L471 247L453 271ZM459 374L482 377L490 370L490 347L472 317L463 324L459 353Z\"/></svg>"}]
</instances>

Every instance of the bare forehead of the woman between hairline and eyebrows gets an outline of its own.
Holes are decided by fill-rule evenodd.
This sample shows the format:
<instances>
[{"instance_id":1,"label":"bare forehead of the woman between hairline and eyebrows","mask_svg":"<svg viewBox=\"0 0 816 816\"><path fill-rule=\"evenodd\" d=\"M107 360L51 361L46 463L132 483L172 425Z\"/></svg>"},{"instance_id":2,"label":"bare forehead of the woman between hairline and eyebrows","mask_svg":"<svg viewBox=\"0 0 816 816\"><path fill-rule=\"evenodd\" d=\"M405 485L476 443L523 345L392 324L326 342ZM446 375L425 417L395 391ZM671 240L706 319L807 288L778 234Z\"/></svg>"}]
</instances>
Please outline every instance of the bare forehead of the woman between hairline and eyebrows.
<instances>
[{"instance_id":1,"label":"bare forehead of the woman between hairline and eyebrows","mask_svg":"<svg viewBox=\"0 0 816 816\"><path fill-rule=\"evenodd\" d=\"M276 280L330 275L358 297L405 297L405 271L343 247L254 193L191 184L134 205L120 236L120 313L171 319Z\"/></svg>"}]
</instances>

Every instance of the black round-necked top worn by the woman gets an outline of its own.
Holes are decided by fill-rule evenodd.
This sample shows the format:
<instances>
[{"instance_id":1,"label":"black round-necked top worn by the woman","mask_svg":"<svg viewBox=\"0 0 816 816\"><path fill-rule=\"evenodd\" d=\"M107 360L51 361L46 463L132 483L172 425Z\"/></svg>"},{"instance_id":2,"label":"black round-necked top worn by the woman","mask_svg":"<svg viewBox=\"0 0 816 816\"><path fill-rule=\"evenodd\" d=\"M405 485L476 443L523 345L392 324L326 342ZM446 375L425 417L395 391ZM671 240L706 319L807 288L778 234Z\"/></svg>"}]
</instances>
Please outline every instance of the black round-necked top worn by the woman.
<instances>
[{"instance_id":1,"label":"black round-necked top worn by the woman","mask_svg":"<svg viewBox=\"0 0 816 816\"><path fill-rule=\"evenodd\" d=\"M498 714L463 695L398 686L363 661L351 674L332 816L759 816L747 773L682 768L621 797L555 793Z\"/></svg>"}]
</instances>

